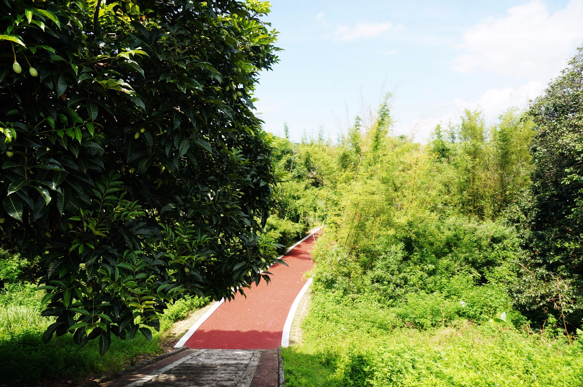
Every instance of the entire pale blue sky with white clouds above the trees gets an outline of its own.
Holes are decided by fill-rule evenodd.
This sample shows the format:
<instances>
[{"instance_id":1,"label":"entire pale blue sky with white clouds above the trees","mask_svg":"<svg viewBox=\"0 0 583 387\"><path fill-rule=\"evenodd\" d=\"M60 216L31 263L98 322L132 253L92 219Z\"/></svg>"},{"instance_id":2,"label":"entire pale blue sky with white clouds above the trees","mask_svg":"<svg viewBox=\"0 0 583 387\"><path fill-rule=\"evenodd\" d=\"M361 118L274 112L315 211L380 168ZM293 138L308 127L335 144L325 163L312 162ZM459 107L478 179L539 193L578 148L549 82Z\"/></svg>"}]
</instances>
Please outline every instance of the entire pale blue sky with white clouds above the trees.
<instances>
[{"instance_id":1,"label":"entire pale blue sky with white clouds above the trees","mask_svg":"<svg viewBox=\"0 0 583 387\"><path fill-rule=\"evenodd\" d=\"M280 63L255 95L265 129L334 140L383 92L395 133L429 137L464 108L525 106L583 45L583 0L273 0Z\"/></svg>"}]
</instances>

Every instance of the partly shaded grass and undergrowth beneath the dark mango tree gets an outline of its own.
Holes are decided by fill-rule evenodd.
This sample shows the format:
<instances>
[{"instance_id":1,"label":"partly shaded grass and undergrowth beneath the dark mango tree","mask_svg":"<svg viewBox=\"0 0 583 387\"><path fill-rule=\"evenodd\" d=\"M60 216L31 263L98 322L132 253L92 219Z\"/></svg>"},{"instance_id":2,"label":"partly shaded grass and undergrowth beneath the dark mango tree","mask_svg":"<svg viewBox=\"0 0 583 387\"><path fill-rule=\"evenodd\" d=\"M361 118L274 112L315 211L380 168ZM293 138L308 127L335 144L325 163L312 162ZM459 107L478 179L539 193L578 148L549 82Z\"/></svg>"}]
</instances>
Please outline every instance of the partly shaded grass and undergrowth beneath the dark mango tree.
<instances>
[{"instance_id":1,"label":"partly shaded grass and undergrowth beneath the dark mango tree","mask_svg":"<svg viewBox=\"0 0 583 387\"><path fill-rule=\"evenodd\" d=\"M110 350L100 356L97 342L79 349L72 335L43 343L41 338L51 319L40 317L33 286L9 287L0 297L0 384L8 385L45 379L74 381L87 375L108 374L167 352L165 332L174 322L208 303L198 297L181 299L168 307L160 321L160 332L153 332L152 341L141 335L131 341L113 337Z\"/></svg>"}]
</instances>

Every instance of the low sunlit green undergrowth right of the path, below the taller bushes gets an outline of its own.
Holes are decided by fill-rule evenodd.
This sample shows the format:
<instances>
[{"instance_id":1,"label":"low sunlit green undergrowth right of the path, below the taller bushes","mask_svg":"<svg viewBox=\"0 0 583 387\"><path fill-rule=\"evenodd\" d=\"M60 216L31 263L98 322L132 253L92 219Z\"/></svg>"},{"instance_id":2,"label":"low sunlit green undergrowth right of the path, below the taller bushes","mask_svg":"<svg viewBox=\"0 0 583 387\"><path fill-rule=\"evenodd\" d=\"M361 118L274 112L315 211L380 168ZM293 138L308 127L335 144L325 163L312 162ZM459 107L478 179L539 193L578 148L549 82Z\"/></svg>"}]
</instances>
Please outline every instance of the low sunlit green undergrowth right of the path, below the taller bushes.
<instances>
[{"instance_id":1,"label":"low sunlit green undergrowth right of the path, below the taller bushes","mask_svg":"<svg viewBox=\"0 0 583 387\"><path fill-rule=\"evenodd\" d=\"M282 350L287 387L581 386L583 345L559 329L455 319L406 328L374 302L317 292L304 345ZM570 340L570 342L569 342Z\"/></svg>"}]
</instances>

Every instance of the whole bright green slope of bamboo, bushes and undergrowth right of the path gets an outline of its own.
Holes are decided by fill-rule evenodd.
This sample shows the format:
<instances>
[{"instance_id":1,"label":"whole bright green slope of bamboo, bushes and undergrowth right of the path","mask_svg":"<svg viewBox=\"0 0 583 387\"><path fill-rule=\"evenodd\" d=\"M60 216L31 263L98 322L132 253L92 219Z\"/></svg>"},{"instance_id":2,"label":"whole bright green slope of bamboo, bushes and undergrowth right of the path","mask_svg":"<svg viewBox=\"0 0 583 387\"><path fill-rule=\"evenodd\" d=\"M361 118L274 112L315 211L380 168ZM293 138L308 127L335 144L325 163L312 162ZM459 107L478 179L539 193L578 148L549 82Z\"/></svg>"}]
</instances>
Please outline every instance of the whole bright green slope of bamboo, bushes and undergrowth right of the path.
<instances>
[{"instance_id":1,"label":"whole bright green slope of bamboo, bushes and undergrowth right of the path","mask_svg":"<svg viewBox=\"0 0 583 387\"><path fill-rule=\"evenodd\" d=\"M338 144L279 140L278 221L326 225L286 385L581 385L577 308L520 292L537 123L466 111L421 145L391 133L389 98Z\"/></svg>"}]
</instances>

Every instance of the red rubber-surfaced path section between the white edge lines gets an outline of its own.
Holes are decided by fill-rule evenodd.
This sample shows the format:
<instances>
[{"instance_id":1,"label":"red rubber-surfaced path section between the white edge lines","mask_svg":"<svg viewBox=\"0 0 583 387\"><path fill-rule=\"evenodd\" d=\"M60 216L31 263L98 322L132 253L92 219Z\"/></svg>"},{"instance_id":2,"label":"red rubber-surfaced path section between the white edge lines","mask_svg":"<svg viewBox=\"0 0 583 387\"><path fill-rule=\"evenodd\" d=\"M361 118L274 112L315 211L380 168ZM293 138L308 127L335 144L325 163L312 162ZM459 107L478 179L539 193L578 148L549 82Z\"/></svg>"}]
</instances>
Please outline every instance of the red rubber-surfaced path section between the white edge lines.
<instances>
[{"instance_id":1,"label":"red rubber-surfaced path section between the white edge lines","mask_svg":"<svg viewBox=\"0 0 583 387\"><path fill-rule=\"evenodd\" d=\"M273 265L269 285L245 289L247 299L225 301L186 342L189 348L275 349L282 343L283 325L291 304L305 284L303 275L312 264L311 251L319 232L294 247L283 259L289 265Z\"/></svg>"}]
</instances>

